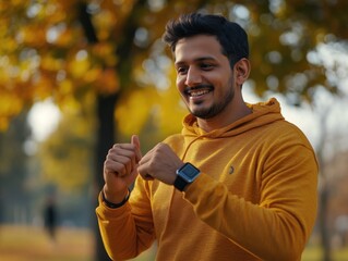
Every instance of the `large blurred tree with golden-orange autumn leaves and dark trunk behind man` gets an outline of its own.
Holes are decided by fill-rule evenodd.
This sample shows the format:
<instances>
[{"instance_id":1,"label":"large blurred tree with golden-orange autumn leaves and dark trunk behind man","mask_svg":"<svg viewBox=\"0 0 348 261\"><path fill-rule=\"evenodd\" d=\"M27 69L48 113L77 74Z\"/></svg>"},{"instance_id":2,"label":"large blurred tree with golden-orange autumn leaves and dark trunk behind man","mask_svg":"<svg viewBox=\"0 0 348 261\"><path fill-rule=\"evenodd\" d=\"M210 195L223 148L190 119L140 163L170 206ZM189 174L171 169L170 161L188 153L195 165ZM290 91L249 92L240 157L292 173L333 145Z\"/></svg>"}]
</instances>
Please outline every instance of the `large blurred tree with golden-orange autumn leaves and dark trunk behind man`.
<instances>
[{"instance_id":1,"label":"large blurred tree with golden-orange autumn leaves and dark trunk behind man","mask_svg":"<svg viewBox=\"0 0 348 261\"><path fill-rule=\"evenodd\" d=\"M317 47L347 39L347 8L345 0L1 1L0 128L37 100L53 97L64 108L93 91L99 191L116 134L178 130L172 123L184 108L169 88L175 71L159 39L168 18L201 9L239 22L250 35L249 84L259 95L283 92L299 105L317 86L337 92Z\"/></svg>"}]
</instances>

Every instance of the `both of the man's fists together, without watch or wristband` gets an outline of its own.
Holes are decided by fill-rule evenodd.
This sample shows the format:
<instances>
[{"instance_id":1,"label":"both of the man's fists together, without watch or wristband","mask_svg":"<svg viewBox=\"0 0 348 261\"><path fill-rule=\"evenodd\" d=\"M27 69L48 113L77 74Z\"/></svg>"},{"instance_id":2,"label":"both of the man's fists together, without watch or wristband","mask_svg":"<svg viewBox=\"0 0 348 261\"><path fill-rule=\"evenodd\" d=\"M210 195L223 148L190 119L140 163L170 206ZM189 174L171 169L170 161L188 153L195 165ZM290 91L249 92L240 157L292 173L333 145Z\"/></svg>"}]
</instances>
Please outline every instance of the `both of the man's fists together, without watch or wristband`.
<instances>
[{"instance_id":1,"label":"both of the man's fists together, without watch or wristband","mask_svg":"<svg viewBox=\"0 0 348 261\"><path fill-rule=\"evenodd\" d=\"M182 164L171 148L161 142L142 157L139 137L133 135L130 144L117 144L109 150L104 163L104 194L111 202L121 201L137 174L146 181L172 185Z\"/></svg>"}]
</instances>

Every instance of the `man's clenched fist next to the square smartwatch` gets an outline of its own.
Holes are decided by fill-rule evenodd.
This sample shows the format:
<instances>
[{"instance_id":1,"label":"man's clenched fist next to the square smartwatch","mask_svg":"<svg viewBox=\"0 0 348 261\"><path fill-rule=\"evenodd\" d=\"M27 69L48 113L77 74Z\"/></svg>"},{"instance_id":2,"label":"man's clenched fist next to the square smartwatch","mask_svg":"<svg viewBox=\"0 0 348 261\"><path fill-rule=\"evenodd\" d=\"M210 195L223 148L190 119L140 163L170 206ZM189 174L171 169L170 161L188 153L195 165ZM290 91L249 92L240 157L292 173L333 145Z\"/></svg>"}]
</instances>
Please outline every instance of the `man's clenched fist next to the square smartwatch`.
<instances>
[{"instance_id":1,"label":"man's clenched fist next to the square smartwatch","mask_svg":"<svg viewBox=\"0 0 348 261\"><path fill-rule=\"evenodd\" d=\"M166 144L156 145L139 162L137 171L144 179L156 178L172 185L177 178L177 170L183 162Z\"/></svg>"}]
</instances>

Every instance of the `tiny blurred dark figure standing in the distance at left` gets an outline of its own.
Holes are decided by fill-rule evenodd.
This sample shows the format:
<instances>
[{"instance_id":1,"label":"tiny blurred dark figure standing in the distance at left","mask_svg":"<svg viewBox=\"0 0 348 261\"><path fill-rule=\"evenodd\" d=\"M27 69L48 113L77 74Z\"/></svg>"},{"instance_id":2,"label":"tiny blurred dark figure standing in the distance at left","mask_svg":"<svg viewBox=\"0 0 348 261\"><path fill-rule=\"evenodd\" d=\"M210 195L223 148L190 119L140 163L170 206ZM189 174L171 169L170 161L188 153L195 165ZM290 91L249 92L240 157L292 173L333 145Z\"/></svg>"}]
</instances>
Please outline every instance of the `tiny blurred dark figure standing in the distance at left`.
<instances>
[{"instance_id":1,"label":"tiny blurred dark figure standing in the distance at left","mask_svg":"<svg viewBox=\"0 0 348 261\"><path fill-rule=\"evenodd\" d=\"M44 209L45 228L50 238L56 241L57 231L57 206L53 196L47 198Z\"/></svg>"}]
</instances>

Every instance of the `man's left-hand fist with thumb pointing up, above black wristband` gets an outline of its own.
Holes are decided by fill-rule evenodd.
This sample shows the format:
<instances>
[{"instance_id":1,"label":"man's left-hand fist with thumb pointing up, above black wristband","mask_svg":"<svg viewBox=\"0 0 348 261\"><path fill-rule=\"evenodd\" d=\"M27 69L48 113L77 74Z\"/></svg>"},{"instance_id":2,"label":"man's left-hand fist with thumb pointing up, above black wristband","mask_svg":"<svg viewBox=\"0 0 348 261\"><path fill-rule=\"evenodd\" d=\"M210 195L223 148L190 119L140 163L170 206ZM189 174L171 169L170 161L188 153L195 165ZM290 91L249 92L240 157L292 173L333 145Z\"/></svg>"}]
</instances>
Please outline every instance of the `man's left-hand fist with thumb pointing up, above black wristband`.
<instances>
[{"instance_id":1,"label":"man's left-hand fist with thumb pointing up, above black wristband","mask_svg":"<svg viewBox=\"0 0 348 261\"><path fill-rule=\"evenodd\" d=\"M116 144L104 162L104 195L112 203L121 202L129 186L137 176L137 164L142 159L140 140L132 136L131 144Z\"/></svg>"}]
</instances>

